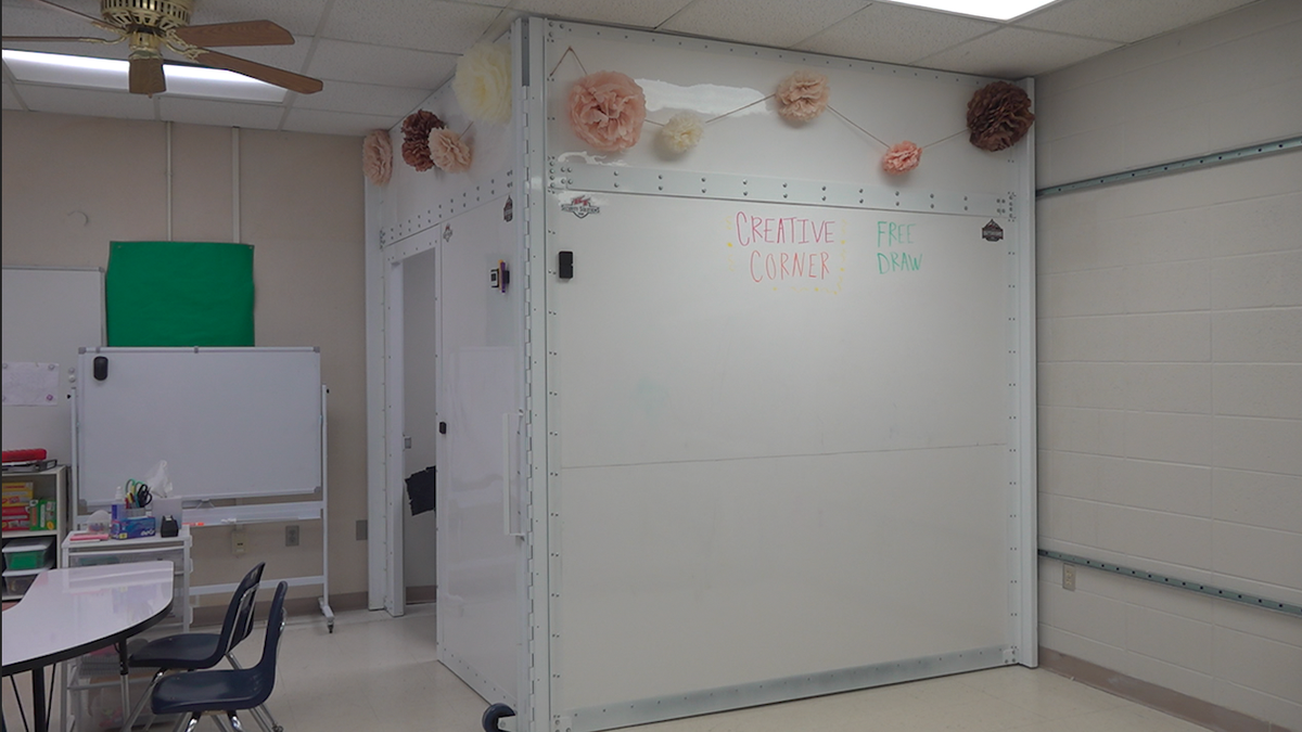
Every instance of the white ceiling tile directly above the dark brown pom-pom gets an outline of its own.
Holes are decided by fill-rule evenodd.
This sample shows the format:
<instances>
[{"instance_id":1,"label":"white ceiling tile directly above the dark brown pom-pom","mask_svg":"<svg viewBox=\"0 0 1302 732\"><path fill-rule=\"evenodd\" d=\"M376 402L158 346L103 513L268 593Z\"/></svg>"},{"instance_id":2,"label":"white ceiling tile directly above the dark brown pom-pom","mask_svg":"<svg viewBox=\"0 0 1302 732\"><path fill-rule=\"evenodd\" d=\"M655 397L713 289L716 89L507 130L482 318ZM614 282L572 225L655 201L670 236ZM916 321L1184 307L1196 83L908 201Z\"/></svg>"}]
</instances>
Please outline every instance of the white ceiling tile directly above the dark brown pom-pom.
<instances>
[{"instance_id":1,"label":"white ceiling tile directly above the dark brown pom-pom","mask_svg":"<svg viewBox=\"0 0 1302 732\"><path fill-rule=\"evenodd\" d=\"M999 78L1048 73L1121 46L1039 30L1003 27L918 60L918 65Z\"/></svg>"}]
</instances>

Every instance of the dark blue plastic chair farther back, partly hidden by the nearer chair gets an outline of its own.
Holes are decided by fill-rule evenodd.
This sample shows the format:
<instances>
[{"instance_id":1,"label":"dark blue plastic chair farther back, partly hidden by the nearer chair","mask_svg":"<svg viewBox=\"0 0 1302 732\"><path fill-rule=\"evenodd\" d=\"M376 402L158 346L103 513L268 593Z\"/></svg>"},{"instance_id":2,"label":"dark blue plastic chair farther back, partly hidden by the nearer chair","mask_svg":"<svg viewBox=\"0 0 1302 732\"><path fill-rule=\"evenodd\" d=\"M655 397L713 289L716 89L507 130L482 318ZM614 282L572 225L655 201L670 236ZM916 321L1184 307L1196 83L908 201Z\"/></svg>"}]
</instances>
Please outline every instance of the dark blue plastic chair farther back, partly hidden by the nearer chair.
<instances>
[{"instance_id":1,"label":"dark blue plastic chair farther back, partly hidden by the nearer chair","mask_svg":"<svg viewBox=\"0 0 1302 732\"><path fill-rule=\"evenodd\" d=\"M143 711L154 688L165 673L212 668L221 659L232 658L230 650L253 632L254 599L266 565L266 561L259 561L240 581L234 594L230 595L230 604L227 606L227 615L221 620L219 633L178 633L150 641L132 653L128 660L129 668L156 668L158 671L145 693L141 694L141 701L135 703L132 714L122 723L122 732L129 732L135 724L135 719Z\"/></svg>"}]
</instances>

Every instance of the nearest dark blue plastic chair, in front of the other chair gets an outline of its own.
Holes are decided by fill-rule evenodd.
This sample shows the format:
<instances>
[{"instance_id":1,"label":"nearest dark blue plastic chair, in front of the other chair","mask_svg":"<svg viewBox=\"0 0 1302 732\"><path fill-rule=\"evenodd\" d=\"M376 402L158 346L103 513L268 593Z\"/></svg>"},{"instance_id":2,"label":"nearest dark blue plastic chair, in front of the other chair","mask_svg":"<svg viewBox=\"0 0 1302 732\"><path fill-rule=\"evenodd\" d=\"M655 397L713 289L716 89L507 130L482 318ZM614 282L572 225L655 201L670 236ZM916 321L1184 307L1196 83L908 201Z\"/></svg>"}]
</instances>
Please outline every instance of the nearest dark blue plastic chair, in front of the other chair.
<instances>
[{"instance_id":1,"label":"nearest dark blue plastic chair, in front of the other chair","mask_svg":"<svg viewBox=\"0 0 1302 732\"><path fill-rule=\"evenodd\" d=\"M241 732L243 725L237 711L251 710L266 703L276 685L276 655L280 636L285 629L285 593L289 582L276 585L267 616L267 638L262 643L262 659L249 668L223 668L214 671L187 671L159 681L154 688L151 707L154 714L180 714L176 731L193 731L204 712L225 712L232 728Z\"/></svg>"}]
</instances>

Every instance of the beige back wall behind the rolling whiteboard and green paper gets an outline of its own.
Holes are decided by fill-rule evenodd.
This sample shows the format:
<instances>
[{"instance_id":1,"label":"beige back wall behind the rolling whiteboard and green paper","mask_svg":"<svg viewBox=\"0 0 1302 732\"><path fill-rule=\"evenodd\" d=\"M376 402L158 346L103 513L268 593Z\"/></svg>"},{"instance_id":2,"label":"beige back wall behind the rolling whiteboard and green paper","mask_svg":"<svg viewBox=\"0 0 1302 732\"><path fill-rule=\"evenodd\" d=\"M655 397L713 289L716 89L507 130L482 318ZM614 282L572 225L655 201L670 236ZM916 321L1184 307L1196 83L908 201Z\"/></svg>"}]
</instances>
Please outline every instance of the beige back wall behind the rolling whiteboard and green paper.
<instances>
[{"instance_id":1,"label":"beige back wall behind the rolling whiteboard and green paper","mask_svg":"<svg viewBox=\"0 0 1302 732\"><path fill-rule=\"evenodd\" d=\"M4 111L5 266L107 267L109 241L165 240L167 125ZM233 241L230 128L173 125L172 240ZM331 591L366 591L366 383L361 141L240 130L240 241L254 246L256 345L316 345L329 387ZM297 548L283 525L195 535L195 584L320 570L320 524ZM301 587L297 595L316 590ZM212 602L225 602L214 598Z\"/></svg>"}]
</instances>

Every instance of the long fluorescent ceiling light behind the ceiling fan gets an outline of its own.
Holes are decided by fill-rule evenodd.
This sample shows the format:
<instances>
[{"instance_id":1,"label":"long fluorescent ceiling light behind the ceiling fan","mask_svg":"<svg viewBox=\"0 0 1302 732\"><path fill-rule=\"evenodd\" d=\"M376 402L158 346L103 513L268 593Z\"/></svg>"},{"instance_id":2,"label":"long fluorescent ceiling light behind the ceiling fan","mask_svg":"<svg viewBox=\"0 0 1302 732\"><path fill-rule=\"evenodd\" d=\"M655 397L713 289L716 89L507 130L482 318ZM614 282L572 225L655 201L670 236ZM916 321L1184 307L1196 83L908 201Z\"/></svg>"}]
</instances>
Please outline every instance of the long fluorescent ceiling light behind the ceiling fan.
<instances>
[{"instance_id":1,"label":"long fluorescent ceiling light behind the ceiling fan","mask_svg":"<svg viewBox=\"0 0 1302 732\"><path fill-rule=\"evenodd\" d=\"M129 64L116 59L36 53L5 48L4 63L18 82L112 91L128 90ZM180 64L164 64L163 68L168 79L165 96L199 96L275 104L285 99L284 89L243 74Z\"/></svg>"}]
</instances>

